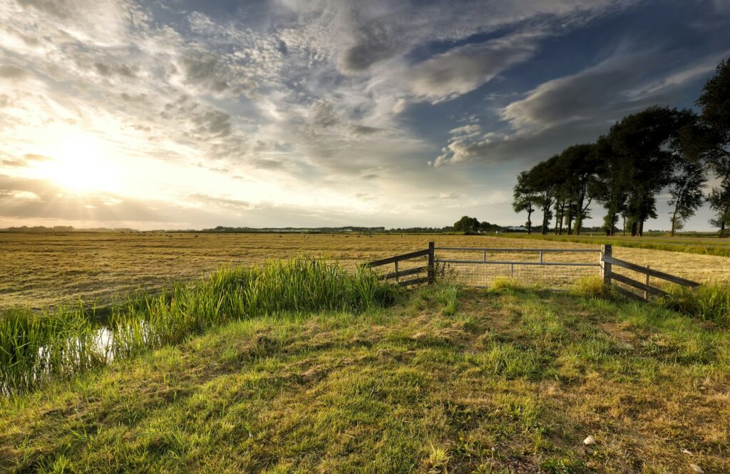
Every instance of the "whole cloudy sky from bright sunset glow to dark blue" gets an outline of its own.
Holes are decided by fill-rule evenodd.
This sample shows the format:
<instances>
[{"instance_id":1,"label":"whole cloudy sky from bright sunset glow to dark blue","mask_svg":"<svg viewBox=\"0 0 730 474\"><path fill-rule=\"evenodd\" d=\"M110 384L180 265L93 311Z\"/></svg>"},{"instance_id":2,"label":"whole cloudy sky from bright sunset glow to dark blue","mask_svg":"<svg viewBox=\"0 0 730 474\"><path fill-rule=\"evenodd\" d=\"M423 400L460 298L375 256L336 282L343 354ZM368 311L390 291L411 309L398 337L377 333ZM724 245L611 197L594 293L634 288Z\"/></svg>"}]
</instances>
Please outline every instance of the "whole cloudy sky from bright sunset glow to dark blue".
<instances>
[{"instance_id":1,"label":"whole cloudy sky from bright sunset glow to dark blue","mask_svg":"<svg viewBox=\"0 0 730 474\"><path fill-rule=\"evenodd\" d=\"M729 0L0 0L0 227L520 225L728 57Z\"/></svg>"}]
</instances>

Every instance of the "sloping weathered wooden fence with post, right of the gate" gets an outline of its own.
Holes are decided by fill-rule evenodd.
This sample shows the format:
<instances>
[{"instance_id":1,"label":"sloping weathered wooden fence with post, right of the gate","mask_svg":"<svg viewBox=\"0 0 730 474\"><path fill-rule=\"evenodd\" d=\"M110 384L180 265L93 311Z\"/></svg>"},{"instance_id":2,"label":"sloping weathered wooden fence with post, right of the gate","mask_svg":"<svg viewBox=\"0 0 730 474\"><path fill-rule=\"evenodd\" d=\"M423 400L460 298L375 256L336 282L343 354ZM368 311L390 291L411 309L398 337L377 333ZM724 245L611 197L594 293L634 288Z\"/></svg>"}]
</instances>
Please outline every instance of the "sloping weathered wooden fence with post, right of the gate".
<instances>
[{"instance_id":1,"label":"sloping weathered wooden fence with post, right of the gate","mask_svg":"<svg viewBox=\"0 0 730 474\"><path fill-rule=\"evenodd\" d=\"M697 283L696 281L680 278L676 275L669 275L669 273L660 272L658 270L652 270L649 266L642 267L641 265L632 264L630 261L615 259L613 258L611 253L611 245L603 245L601 251L601 268L603 281L606 285L609 286L613 284L613 286L615 286L618 291L621 291L621 293L625 294L628 297L648 300L650 296L667 296L666 291L662 291L661 289L650 285L650 277L659 278L660 280L669 281L670 283L676 283L677 285L688 286L690 288L696 288L699 286L699 283ZM645 275L644 282L632 280L625 275L614 272L614 265L616 267L625 268L626 270L632 270L634 272ZM615 285L615 283L613 283L614 281L623 283L624 285L631 286L632 288L636 288L637 290L642 291L643 298L633 291L629 291L622 286Z\"/></svg>"}]
</instances>

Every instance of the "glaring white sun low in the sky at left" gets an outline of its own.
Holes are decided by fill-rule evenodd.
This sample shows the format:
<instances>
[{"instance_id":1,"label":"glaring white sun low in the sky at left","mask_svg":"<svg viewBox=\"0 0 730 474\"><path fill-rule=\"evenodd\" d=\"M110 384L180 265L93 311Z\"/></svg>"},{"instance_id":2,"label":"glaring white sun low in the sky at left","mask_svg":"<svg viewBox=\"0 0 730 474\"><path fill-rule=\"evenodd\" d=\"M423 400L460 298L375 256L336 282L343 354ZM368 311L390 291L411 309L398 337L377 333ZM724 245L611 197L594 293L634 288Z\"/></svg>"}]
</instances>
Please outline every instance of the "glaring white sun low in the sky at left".
<instances>
[{"instance_id":1,"label":"glaring white sun low in the sky at left","mask_svg":"<svg viewBox=\"0 0 730 474\"><path fill-rule=\"evenodd\" d=\"M60 140L48 155L51 159L42 164L42 174L66 191L119 191L119 169L98 138L74 134Z\"/></svg>"}]
</instances>

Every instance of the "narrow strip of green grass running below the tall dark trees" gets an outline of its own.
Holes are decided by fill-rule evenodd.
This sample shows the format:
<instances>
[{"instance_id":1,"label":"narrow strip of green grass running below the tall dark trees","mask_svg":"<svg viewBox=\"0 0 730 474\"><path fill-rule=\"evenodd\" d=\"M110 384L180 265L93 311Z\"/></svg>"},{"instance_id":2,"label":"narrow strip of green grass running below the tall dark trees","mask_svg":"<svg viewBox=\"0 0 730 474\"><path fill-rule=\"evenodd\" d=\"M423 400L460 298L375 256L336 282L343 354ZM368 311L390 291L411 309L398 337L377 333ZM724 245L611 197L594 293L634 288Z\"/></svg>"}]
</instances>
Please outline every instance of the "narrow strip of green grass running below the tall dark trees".
<instances>
[{"instance_id":1,"label":"narrow strip of green grass running below the tall dark trees","mask_svg":"<svg viewBox=\"0 0 730 474\"><path fill-rule=\"evenodd\" d=\"M497 237L509 239L551 240L555 242L580 242L584 244L611 244L618 247L645 248L656 251L696 253L730 257L730 240L718 238L693 237L623 237L600 235L541 235L541 234L499 234Z\"/></svg>"}]
</instances>

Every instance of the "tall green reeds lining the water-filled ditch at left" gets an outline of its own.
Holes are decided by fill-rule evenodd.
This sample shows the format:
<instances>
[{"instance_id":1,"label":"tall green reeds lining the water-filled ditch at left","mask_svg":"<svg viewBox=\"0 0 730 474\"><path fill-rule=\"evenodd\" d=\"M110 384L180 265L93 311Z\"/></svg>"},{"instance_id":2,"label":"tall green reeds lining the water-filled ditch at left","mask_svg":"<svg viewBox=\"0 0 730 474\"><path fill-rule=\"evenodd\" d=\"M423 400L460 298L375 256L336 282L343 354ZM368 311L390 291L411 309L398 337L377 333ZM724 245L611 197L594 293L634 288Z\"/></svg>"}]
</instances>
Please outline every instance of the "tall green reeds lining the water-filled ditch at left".
<instances>
[{"instance_id":1,"label":"tall green reeds lining the water-filled ditch at left","mask_svg":"<svg viewBox=\"0 0 730 474\"><path fill-rule=\"evenodd\" d=\"M105 326L95 311L61 307L0 316L0 391L15 394L113 359L183 342L229 321L278 313L361 313L387 305L395 290L372 270L346 272L324 259L224 267L209 278L175 283L158 296L112 308Z\"/></svg>"}]
</instances>

